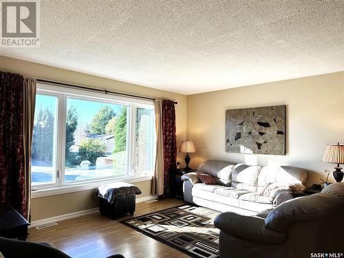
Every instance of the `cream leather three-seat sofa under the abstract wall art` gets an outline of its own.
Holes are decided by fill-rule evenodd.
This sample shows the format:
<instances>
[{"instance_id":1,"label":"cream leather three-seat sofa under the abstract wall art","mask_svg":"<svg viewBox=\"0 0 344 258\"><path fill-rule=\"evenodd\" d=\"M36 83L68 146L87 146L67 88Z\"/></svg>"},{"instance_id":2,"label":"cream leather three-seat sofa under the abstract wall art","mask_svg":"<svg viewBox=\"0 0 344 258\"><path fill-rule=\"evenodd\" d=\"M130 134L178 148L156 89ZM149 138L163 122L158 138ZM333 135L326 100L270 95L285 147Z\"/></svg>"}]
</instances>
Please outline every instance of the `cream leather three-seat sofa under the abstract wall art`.
<instances>
[{"instance_id":1,"label":"cream leather three-seat sofa under the abstract wall art","mask_svg":"<svg viewBox=\"0 0 344 258\"><path fill-rule=\"evenodd\" d=\"M215 177L217 184L204 184L197 174ZM217 211L245 215L272 208L285 191L303 191L307 171L293 166L250 166L220 160L206 160L196 172L182 175L184 201ZM266 191L270 186L272 191ZM268 194L266 194L268 193Z\"/></svg>"}]
</instances>

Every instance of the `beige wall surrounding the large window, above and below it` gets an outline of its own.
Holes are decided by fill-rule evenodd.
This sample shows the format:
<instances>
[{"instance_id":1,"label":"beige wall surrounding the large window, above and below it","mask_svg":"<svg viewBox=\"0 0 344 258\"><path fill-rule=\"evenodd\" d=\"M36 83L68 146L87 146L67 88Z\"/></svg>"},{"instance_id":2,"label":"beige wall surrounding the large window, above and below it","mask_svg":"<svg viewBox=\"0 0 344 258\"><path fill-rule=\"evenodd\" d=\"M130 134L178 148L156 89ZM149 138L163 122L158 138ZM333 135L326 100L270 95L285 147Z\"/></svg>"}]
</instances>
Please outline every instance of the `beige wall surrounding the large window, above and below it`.
<instances>
[{"instance_id":1,"label":"beige wall surrounding the large window, above and below it","mask_svg":"<svg viewBox=\"0 0 344 258\"><path fill-rule=\"evenodd\" d=\"M178 101L178 105L175 106L177 142L180 144L182 140L186 139L186 96L182 94L165 92L159 89L133 85L131 83L123 83L117 80L91 76L88 74L73 72L47 65L40 65L37 63L30 63L4 56L0 56L0 69L1 71L15 72L32 78L54 80L98 89L108 89L111 91L149 96L152 98L167 98ZM183 155L180 154L180 157L182 156ZM139 195L138 197L150 195L151 181L139 182L137 184L142 189L142 195ZM32 221L83 211L96 206L97 202L92 198L92 191L34 198L32 200Z\"/></svg>"}]
</instances>

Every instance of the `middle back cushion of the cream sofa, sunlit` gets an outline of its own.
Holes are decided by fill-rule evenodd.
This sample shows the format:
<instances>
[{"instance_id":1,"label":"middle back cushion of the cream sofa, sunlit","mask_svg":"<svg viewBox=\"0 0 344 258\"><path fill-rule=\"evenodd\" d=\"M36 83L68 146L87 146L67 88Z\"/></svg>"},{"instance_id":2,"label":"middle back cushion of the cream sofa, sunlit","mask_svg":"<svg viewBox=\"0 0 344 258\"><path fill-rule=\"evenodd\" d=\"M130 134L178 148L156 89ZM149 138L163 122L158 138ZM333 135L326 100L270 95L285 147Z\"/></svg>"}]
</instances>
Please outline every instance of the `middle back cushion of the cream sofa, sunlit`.
<instances>
[{"instance_id":1,"label":"middle back cushion of the cream sofa, sunlit","mask_svg":"<svg viewBox=\"0 0 344 258\"><path fill-rule=\"evenodd\" d=\"M232 173L232 186L237 189L257 191L257 182L261 166L236 164Z\"/></svg>"}]
</instances>

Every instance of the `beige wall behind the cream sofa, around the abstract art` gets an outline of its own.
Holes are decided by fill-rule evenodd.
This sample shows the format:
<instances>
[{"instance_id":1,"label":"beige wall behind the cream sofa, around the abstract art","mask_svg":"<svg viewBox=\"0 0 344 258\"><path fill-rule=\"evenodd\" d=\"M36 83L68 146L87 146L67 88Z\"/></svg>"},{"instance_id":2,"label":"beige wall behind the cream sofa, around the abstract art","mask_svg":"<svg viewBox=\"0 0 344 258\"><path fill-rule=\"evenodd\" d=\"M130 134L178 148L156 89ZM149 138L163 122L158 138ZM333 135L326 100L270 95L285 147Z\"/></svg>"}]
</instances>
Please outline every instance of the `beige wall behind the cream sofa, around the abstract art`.
<instances>
[{"instance_id":1,"label":"beige wall behind the cream sofa, around the abstract art","mask_svg":"<svg viewBox=\"0 0 344 258\"><path fill-rule=\"evenodd\" d=\"M226 109L270 105L286 105L286 156L226 153ZM193 167L207 159L286 164L307 169L308 185L319 183L324 169L334 171L321 162L326 144L344 142L344 72L190 95L187 136L197 148Z\"/></svg>"}]
</instances>

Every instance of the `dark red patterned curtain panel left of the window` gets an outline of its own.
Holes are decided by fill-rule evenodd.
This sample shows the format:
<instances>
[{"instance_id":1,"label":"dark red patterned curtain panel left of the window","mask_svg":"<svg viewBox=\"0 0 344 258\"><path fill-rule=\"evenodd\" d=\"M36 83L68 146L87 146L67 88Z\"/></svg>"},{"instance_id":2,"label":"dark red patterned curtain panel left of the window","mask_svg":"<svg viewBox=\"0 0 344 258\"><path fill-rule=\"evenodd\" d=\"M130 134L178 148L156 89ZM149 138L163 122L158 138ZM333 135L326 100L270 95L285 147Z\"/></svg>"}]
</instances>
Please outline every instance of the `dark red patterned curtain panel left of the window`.
<instances>
[{"instance_id":1,"label":"dark red patterned curtain panel left of the window","mask_svg":"<svg viewBox=\"0 0 344 258\"><path fill-rule=\"evenodd\" d=\"M0 203L10 204L26 217L23 76L0 73Z\"/></svg>"}]
</instances>

